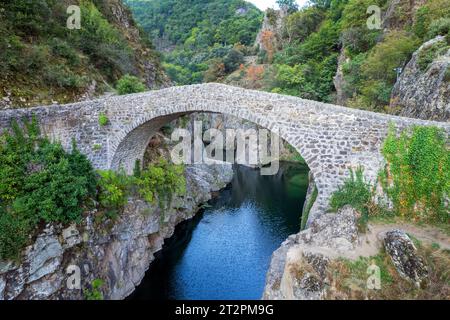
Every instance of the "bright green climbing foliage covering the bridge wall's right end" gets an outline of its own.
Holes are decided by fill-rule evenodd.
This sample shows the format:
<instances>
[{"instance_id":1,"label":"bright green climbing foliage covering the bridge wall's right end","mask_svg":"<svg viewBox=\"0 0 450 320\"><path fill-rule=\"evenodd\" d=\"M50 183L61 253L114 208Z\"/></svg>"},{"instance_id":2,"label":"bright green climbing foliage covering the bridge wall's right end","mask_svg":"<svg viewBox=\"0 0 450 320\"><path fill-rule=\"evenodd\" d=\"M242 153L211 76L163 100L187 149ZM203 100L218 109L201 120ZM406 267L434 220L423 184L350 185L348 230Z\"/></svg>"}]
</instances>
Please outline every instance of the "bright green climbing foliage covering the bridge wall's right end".
<instances>
[{"instance_id":1,"label":"bright green climbing foliage covering the bridge wall's right end","mask_svg":"<svg viewBox=\"0 0 450 320\"><path fill-rule=\"evenodd\" d=\"M391 128L383 145L387 160L380 174L395 213L414 220L448 223L445 197L450 194L450 152L445 133L414 127L397 136Z\"/></svg>"}]
</instances>

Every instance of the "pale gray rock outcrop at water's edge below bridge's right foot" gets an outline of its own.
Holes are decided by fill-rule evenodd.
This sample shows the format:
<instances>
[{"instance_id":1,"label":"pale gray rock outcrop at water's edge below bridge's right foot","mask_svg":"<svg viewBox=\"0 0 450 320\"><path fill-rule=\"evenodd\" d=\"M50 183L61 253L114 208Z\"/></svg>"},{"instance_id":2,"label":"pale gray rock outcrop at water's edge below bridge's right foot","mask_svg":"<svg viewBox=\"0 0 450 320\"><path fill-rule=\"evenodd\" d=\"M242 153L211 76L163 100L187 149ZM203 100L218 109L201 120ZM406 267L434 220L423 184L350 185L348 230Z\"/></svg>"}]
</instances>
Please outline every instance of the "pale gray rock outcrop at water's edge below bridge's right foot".
<instances>
[{"instance_id":1,"label":"pale gray rock outcrop at water's edge below bridge's right foot","mask_svg":"<svg viewBox=\"0 0 450 320\"><path fill-rule=\"evenodd\" d=\"M323 214L311 226L290 236L273 255L266 276L263 299L321 299L329 284L327 255L355 248L358 213L345 207Z\"/></svg>"}]
</instances>

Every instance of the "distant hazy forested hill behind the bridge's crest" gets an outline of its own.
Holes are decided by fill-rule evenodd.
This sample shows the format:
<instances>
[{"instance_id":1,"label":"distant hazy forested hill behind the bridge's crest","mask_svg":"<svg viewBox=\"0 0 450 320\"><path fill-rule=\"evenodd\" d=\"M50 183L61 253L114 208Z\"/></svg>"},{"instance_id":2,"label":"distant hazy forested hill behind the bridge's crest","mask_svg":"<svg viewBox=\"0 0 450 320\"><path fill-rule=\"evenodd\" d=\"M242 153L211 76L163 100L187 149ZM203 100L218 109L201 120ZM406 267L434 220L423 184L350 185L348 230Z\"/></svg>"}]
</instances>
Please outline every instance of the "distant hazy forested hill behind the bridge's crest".
<instances>
[{"instance_id":1,"label":"distant hazy forested hill behind the bridge's crest","mask_svg":"<svg viewBox=\"0 0 450 320\"><path fill-rule=\"evenodd\" d=\"M244 62L263 13L243 0L126 0L176 84L224 76Z\"/></svg>"}]
</instances>

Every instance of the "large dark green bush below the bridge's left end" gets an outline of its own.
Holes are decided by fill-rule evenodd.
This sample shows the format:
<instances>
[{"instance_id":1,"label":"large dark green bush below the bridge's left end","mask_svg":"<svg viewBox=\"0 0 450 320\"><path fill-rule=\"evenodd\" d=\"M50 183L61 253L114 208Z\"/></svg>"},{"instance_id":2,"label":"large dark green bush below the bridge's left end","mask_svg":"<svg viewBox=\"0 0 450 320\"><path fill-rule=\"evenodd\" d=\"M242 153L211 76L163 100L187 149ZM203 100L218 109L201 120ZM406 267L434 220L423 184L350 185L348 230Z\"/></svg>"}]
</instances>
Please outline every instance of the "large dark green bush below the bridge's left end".
<instances>
[{"instance_id":1,"label":"large dark green bush below the bridge's left end","mask_svg":"<svg viewBox=\"0 0 450 320\"><path fill-rule=\"evenodd\" d=\"M79 221L95 196L88 159L42 137L35 118L0 136L0 164L0 259L16 259L40 222Z\"/></svg>"}]
</instances>

